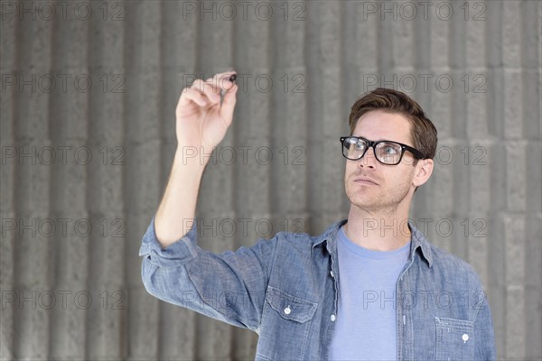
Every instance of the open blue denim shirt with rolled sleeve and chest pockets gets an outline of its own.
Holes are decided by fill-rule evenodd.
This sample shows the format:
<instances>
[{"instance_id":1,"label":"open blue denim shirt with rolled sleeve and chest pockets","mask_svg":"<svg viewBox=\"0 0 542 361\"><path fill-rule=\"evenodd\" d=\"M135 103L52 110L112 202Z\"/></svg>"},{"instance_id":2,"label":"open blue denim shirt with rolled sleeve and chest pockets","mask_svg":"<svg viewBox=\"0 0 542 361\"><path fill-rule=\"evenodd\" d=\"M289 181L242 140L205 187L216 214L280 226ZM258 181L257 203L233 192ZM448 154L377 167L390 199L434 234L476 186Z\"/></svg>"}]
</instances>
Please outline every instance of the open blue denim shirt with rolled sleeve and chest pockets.
<instances>
[{"instance_id":1,"label":"open blue denim shirt with rolled sleeve and chest pockets","mask_svg":"<svg viewBox=\"0 0 542 361\"><path fill-rule=\"evenodd\" d=\"M345 223L216 255L197 245L195 222L163 249L153 218L139 251L143 282L160 300L257 332L257 360L328 359L340 287L336 236ZM397 360L494 360L478 276L409 227L410 255L397 281Z\"/></svg>"}]
</instances>

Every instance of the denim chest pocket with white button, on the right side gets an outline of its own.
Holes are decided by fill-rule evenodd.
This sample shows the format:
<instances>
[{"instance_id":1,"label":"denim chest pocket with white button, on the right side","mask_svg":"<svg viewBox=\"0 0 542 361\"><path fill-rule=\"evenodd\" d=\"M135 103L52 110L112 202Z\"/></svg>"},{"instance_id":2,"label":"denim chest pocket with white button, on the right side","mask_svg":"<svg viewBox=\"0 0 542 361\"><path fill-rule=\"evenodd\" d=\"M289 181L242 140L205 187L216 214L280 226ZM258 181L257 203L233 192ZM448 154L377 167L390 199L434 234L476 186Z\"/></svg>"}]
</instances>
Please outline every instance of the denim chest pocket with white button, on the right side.
<instances>
[{"instance_id":1,"label":"denim chest pocket with white button, on the right side","mask_svg":"<svg viewBox=\"0 0 542 361\"><path fill-rule=\"evenodd\" d=\"M435 317L436 359L438 361L474 358L474 322Z\"/></svg>"}]
</instances>

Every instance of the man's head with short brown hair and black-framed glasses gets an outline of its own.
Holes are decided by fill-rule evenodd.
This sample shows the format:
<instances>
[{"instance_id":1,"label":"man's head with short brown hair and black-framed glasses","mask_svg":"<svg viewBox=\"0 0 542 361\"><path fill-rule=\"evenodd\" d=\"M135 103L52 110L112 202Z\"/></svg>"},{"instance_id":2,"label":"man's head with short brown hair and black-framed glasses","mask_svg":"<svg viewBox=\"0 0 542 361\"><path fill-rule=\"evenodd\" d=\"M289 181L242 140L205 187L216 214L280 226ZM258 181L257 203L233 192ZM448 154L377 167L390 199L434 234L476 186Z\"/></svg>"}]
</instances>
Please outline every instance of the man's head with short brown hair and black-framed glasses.
<instances>
[{"instance_id":1,"label":"man's head with short brown hair and black-framed glasses","mask_svg":"<svg viewBox=\"0 0 542 361\"><path fill-rule=\"evenodd\" d=\"M433 171L435 125L404 93L378 88L352 106L350 135L361 140L356 143L356 139L350 139L350 145L343 148L345 152L351 152L353 158L365 152L361 159L346 163L345 187L352 205L372 211L407 210L414 191ZM379 141L400 145L394 148L388 143L371 143Z\"/></svg>"}]
</instances>

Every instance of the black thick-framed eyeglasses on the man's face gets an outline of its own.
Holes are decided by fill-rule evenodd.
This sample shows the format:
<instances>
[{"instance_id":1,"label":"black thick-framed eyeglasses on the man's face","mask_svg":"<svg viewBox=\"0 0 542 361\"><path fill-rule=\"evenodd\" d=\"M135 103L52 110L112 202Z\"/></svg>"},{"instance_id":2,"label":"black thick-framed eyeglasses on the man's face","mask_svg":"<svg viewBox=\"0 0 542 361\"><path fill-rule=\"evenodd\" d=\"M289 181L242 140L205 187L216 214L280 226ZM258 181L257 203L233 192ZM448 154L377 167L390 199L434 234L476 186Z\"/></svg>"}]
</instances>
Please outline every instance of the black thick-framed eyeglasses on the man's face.
<instances>
[{"instance_id":1,"label":"black thick-framed eyeglasses on the man's face","mask_svg":"<svg viewBox=\"0 0 542 361\"><path fill-rule=\"evenodd\" d=\"M412 153L416 159L424 159L424 154L409 145L392 141L369 141L359 136L341 136L342 156L350 161L357 161L373 149L378 162L396 165L403 159L405 151Z\"/></svg>"}]
</instances>

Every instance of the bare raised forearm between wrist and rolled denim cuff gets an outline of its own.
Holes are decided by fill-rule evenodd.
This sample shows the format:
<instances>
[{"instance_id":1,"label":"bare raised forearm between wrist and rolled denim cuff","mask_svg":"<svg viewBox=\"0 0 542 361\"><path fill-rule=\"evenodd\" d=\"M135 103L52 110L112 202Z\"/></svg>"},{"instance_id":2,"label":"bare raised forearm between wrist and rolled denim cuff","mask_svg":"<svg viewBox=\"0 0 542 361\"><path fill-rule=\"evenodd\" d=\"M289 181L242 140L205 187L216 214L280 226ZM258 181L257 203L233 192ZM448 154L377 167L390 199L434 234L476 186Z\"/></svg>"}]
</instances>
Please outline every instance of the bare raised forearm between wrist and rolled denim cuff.
<instances>
[{"instance_id":1,"label":"bare raised forearm between wrist and rolled denim cuff","mask_svg":"<svg viewBox=\"0 0 542 361\"><path fill-rule=\"evenodd\" d=\"M164 197L154 218L156 237L163 248L191 229L205 165L199 157L183 159L181 147L175 153Z\"/></svg>"}]
</instances>

